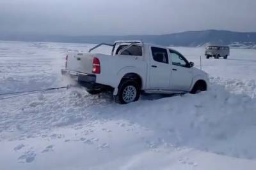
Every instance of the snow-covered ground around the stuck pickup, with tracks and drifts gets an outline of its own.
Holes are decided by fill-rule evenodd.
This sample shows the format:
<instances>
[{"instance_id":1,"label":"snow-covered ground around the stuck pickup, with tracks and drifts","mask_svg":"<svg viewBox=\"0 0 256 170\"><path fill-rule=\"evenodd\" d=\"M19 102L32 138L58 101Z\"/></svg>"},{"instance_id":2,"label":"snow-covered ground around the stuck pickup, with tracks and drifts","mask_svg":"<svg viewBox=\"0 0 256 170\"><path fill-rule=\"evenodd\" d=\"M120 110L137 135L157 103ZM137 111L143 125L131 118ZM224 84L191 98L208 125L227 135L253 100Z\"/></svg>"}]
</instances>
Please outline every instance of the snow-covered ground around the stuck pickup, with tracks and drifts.
<instances>
[{"instance_id":1,"label":"snow-covered ground around the stuck pickup, with tracks and drifts","mask_svg":"<svg viewBox=\"0 0 256 170\"><path fill-rule=\"evenodd\" d=\"M92 46L0 41L0 93L74 83L65 54ZM79 87L1 100L0 169L255 169L256 50L207 60L174 48L195 67L202 55L209 91L122 106Z\"/></svg>"}]
</instances>

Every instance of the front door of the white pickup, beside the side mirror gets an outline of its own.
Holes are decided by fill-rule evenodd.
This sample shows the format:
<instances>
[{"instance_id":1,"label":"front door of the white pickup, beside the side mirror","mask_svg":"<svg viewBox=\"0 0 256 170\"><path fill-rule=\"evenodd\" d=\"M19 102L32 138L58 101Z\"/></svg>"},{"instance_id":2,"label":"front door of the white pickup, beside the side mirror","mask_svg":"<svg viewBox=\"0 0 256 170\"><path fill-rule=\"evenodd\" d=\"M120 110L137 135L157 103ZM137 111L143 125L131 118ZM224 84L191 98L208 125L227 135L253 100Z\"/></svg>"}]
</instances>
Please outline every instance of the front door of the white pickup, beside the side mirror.
<instances>
[{"instance_id":1,"label":"front door of the white pickup, beside the side mirror","mask_svg":"<svg viewBox=\"0 0 256 170\"><path fill-rule=\"evenodd\" d=\"M170 89L188 92L192 80L193 70L189 67L189 62L180 53L169 50L172 75L170 76Z\"/></svg>"}]
</instances>

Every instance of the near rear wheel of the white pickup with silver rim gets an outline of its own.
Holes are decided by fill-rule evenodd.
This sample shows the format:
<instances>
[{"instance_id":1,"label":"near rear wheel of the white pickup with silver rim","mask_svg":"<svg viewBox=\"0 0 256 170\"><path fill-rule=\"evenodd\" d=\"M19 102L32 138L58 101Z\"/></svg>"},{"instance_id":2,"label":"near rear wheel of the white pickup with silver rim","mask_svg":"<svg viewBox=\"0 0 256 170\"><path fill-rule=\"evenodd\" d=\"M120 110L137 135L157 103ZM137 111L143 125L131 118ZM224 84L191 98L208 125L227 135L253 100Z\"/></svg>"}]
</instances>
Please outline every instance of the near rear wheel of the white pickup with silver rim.
<instances>
[{"instance_id":1,"label":"near rear wheel of the white pickup with silver rim","mask_svg":"<svg viewBox=\"0 0 256 170\"><path fill-rule=\"evenodd\" d=\"M132 95L133 94L133 95ZM127 104L138 101L140 98L140 87L136 81L124 80L118 87L118 93L114 96L118 104Z\"/></svg>"}]
</instances>

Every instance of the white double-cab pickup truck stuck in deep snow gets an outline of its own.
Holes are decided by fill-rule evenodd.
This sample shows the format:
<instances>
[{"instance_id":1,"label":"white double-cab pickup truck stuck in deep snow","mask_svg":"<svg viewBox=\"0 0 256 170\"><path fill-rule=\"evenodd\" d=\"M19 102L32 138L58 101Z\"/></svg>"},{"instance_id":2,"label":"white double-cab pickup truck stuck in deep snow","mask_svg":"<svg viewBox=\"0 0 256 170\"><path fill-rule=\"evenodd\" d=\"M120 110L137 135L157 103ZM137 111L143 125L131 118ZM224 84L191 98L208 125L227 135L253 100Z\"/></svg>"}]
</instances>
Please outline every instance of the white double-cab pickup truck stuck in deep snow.
<instances>
[{"instance_id":1,"label":"white double-cab pickup truck stuck in deep snow","mask_svg":"<svg viewBox=\"0 0 256 170\"><path fill-rule=\"evenodd\" d=\"M91 53L101 45L113 46L111 55ZM68 52L62 74L86 87L90 94L111 90L116 103L137 101L150 94L195 94L207 90L209 76L176 50L142 41L102 43L88 53Z\"/></svg>"}]
</instances>

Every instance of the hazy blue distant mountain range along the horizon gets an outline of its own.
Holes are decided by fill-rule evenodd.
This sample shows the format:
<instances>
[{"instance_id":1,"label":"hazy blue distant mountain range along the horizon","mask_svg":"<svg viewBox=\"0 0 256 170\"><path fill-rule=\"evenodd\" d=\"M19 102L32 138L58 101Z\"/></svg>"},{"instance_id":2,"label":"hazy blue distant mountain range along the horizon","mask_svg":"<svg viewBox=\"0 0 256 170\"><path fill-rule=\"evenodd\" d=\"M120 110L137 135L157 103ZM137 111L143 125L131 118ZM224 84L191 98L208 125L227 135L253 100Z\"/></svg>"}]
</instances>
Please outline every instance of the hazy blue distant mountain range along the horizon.
<instances>
[{"instance_id":1,"label":"hazy blue distant mountain range along the horizon","mask_svg":"<svg viewBox=\"0 0 256 170\"><path fill-rule=\"evenodd\" d=\"M131 36L42 36L33 34L0 34L1 40L11 41L51 41L63 43L113 43L116 40L143 40L165 46L206 46L230 45L240 48L256 48L256 32L232 31L186 31L164 35Z\"/></svg>"}]
</instances>

